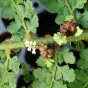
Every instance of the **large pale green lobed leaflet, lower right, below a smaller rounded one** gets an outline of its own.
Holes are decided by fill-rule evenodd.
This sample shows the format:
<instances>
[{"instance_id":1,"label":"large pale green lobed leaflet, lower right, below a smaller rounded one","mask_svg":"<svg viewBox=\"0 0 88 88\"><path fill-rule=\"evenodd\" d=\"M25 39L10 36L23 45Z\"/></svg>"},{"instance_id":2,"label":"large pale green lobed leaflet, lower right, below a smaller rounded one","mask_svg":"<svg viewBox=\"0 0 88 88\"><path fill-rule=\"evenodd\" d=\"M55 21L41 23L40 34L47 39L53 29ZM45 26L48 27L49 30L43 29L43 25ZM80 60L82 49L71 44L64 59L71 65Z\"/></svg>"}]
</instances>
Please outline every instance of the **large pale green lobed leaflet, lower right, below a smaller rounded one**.
<instances>
[{"instance_id":1,"label":"large pale green lobed leaflet, lower right, below a smaller rounded one","mask_svg":"<svg viewBox=\"0 0 88 88\"><path fill-rule=\"evenodd\" d=\"M61 73L63 75L64 81L73 82L75 79L75 73L73 69L70 69L69 66L61 67Z\"/></svg>"}]
</instances>

